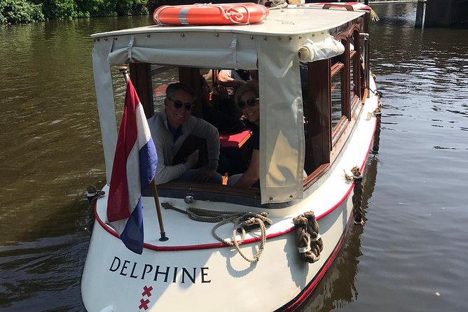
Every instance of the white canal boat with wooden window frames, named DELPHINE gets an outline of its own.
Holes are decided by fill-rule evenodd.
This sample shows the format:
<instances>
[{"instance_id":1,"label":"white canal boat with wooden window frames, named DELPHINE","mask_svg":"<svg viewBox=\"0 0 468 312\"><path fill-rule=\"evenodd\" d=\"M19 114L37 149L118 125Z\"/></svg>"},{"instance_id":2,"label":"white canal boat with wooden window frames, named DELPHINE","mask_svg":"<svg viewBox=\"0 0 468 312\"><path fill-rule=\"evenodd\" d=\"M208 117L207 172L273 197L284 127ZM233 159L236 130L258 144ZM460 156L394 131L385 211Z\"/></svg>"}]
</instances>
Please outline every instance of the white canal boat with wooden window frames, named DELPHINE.
<instances>
[{"instance_id":1,"label":"white canal boat with wooden window frames, named DELPHINE","mask_svg":"<svg viewBox=\"0 0 468 312\"><path fill-rule=\"evenodd\" d=\"M381 95L369 60L371 8L282 3L268 10L251 24L153 24L92 35L107 183L92 199L96 221L81 279L88 311L294 311L331 267L348 229L363 225L359 197L378 141ZM175 75L194 90L208 70L212 83L220 69L259 77L259 187L146 187L141 254L126 248L106 217L122 64L146 118L158 111L153 90L165 83L163 71L173 73L166 83ZM202 116L198 99L193 115ZM249 135L221 133L221 149L244 153ZM207 216L211 222L200 221Z\"/></svg>"}]
</instances>

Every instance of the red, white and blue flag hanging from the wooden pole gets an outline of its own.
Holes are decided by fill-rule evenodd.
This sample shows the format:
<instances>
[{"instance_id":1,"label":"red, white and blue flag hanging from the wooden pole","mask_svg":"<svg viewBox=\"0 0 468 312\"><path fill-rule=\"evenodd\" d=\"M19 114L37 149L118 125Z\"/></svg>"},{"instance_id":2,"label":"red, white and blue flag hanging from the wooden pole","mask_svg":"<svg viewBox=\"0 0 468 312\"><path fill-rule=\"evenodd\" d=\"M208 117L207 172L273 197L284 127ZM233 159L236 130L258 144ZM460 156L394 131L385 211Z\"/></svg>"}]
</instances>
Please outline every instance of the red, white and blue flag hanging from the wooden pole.
<instances>
[{"instance_id":1,"label":"red, white and blue flag hanging from the wooden pole","mask_svg":"<svg viewBox=\"0 0 468 312\"><path fill-rule=\"evenodd\" d=\"M107 221L128 249L143 252L142 192L156 173L158 156L143 106L128 79L125 108L113 158Z\"/></svg>"}]
</instances>

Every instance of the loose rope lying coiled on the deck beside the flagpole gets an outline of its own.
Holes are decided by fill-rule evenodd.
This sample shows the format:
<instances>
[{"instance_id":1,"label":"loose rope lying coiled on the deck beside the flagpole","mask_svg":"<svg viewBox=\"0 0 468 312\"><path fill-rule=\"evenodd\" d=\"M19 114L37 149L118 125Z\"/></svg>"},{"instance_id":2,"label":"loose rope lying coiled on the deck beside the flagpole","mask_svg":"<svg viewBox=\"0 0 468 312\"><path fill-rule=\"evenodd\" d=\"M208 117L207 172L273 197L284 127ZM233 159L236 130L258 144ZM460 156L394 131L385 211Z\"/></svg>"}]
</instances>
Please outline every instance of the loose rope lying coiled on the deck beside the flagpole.
<instances>
[{"instance_id":1,"label":"loose rope lying coiled on the deck beside the flagpole","mask_svg":"<svg viewBox=\"0 0 468 312\"><path fill-rule=\"evenodd\" d=\"M248 262L257 262L260 259L263 250L265 249L266 244L266 225L268 226L273 224L273 221L268 219L268 213L252 213L252 212L235 212L235 211L214 211L201 208L187 208L186 211L180 208L176 208L169 203L161 204L166 209L172 209L178 211L179 213L184 213L188 215L188 218L199 222L218 222L212 229L212 234L214 238L221 243L226 243L228 246L235 246L235 249L238 250L238 253ZM216 229L222 225L228 223L233 223L233 238L232 240L223 239L216 234ZM236 239L236 232L240 229L240 240ZM260 228L261 240L258 252L252 257L249 258L240 250L240 245L244 242L246 230L252 230Z\"/></svg>"}]
</instances>

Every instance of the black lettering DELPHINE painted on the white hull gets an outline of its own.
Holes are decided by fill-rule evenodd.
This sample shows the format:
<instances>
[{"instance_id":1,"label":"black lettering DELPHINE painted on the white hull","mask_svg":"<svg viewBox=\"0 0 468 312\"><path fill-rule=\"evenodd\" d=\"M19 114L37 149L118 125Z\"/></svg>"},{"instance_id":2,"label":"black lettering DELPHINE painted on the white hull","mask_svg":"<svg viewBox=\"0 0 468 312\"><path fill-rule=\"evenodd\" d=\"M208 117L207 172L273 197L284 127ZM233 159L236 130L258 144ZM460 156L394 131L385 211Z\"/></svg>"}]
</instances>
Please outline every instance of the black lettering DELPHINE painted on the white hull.
<instances>
[{"instance_id":1,"label":"black lettering DELPHINE painted on the white hull","mask_svg":"<svg viewBox=\"0 0 468 312\"><path fill-rule=\"evenodd\" d=\"M109 271L128 278L153 278L153 281L164 281L164 283L177 283L181 284L192 282L195 283L211 283L207 279L209 267L191 268L184 267L165 267L153 264L139 264L138 262L131 262L129 260L121 260L121 258L114 256ZM197 273L200 272L200 278L197 281ZM177 274L179 272L179 274Z\"/></svg>"}]
</instances>

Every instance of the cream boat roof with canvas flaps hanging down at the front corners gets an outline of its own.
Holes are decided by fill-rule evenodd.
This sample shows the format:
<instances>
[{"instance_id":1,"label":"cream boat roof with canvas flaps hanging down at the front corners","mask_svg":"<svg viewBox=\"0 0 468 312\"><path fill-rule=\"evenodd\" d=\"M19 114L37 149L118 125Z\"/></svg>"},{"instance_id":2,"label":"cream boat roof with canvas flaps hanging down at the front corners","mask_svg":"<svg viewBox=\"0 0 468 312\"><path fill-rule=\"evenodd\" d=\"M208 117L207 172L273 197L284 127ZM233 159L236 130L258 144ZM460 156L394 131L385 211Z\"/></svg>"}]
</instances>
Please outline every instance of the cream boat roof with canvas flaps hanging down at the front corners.
<instances>
[{"instance_id":1,"label":"cream boat roof with canvas flaps hanging down at the front corners","mask_svg":"<svg viewBox=\"0 0 468 312\"><path fill-rule=\"evenodd\" d=\"M301 19L299 26L291 10ZM116 148L111 65L146 62L219 69L259 69L261 202L303 197L304 132L298 50L322 43L329 29L364 12L271 10L267 20L222 27L140 27L92 35L95 87L109 183ZM322 49L323 50L323 49ZM329 55L332 57L334 55Z\"/></svg>"}]
</instances>

